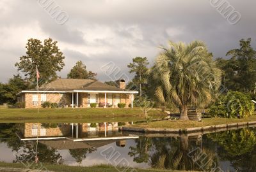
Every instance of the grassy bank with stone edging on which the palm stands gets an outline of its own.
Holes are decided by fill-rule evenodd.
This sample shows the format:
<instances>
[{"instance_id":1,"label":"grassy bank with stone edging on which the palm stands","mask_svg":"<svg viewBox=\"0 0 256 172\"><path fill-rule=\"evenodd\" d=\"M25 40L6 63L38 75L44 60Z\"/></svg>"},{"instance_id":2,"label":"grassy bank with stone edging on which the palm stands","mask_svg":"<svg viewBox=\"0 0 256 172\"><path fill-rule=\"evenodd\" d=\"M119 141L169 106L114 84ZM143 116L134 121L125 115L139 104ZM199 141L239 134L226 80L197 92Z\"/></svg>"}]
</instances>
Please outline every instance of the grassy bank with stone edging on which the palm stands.
<instances>
[{"instance_id":1,"label":"grassy bank with stone edging on which the palm stands","mask_svg":"<svg viewBox=\"0 0 256 172\"><path fill-rule=\"evenodd\" d=\"M182 120L164 120L157 122L150 122L148 125L143 124L134 124L132 127L141 127L141 128L172 128L172 129L186 129L190 127L205 127L209 125L218 125L218 124L231 124L237 122L250 122L256 121L256 115L253 115L249 118L238 119L238 118L203 118L202 122L196 121L182 121Z\"/></svg>"}]
</instances>

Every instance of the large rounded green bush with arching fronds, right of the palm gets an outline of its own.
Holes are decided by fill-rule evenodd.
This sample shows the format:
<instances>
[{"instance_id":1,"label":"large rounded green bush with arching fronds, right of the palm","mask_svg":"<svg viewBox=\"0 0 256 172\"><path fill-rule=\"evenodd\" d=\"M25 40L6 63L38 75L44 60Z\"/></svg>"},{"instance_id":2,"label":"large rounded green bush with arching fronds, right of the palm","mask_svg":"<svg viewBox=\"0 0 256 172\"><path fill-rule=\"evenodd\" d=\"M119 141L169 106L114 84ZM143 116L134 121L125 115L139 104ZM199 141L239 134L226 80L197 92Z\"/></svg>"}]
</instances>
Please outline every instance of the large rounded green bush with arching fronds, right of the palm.
<instances>
[{"instance_id":1,"label":"large rounded green bush with arching fronds, right of the palm","mask_svg":"<svg viewBox=\"0 0 256 172\"><path fill-rule=\"evenodd\" d=\"M210 107L209 113L212 117L246 118L253 115L254 104L250 96L242 92L230 91Z\"/></svg>"}]
</instances>

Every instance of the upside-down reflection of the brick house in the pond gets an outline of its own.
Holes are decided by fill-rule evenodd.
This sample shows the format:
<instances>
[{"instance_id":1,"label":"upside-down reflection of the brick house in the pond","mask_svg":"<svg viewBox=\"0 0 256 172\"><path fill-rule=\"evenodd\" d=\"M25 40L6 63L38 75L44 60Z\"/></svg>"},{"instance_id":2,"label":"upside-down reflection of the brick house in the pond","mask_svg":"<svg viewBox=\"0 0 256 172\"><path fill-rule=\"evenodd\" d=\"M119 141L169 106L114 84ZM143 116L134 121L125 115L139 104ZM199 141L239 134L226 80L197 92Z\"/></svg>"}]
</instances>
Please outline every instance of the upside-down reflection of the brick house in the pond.
<instances>
[{"instance_id":1,"label":"upside-down reflection of the brick house in the pond","mask_svg":"<svg viewBox=\"0 0 256 172\"><path fill-rule=\"evenodd\" d=\"M119 130L118 122L25 123L17 136L22 141L39 140L45 145L58 149L94 147L93 145L99 147L102 144L113 142L116 142L118 147L125 147L125 140L138 138L138 136L122 133Z\"/></svg>"}]
</instances>

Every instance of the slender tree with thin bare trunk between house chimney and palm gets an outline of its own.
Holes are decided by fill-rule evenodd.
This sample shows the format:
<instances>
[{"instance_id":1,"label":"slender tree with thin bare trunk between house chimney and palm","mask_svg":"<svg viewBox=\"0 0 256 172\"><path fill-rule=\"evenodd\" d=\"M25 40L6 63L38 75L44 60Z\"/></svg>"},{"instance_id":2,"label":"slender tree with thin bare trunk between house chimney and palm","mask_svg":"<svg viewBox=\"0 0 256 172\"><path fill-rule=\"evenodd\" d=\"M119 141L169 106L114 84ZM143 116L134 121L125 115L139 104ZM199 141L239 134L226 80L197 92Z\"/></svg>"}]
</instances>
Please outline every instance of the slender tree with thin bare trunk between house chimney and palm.
<instances>
[{"instance_id":1,"label":"slender tree with thin bare trunk between house chimney and palm","mask_svg":"<svg viewBox=\"0 0 256 172\"><path fill-rule=\"evenodd\" d=\"M147 57L135 57L132 59L132 63L127 65L127 67L130 68L129 73L135 73L132 82L134 82L137 87L140 87L140 101L142 97L141 87L143 84L147 83L148 64Z\"/></svg>"}]
</instances>

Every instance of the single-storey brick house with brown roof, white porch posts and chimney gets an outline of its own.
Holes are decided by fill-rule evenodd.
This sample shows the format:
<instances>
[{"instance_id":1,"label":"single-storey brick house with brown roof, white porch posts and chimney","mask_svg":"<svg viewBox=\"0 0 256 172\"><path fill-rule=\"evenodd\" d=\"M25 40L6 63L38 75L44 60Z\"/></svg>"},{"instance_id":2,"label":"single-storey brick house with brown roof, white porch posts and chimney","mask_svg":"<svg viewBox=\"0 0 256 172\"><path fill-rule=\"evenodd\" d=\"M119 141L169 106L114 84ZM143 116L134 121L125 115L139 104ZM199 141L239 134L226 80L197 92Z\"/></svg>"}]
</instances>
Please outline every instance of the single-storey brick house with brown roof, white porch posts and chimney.
<instances>
[{"instance_id":1,"label":"single-storey brick house with brown roof, white porch posts and chimney","mask_svg":"<svg viewBox=\"0 0 256 172\"><path fill-rule=\"evenodd\" d=\"M118 87L94 80L62 79L42 85L38 89L19 92L19 102L25 103L25 108L38 108L49 101L61 107L88 108L91 103L98 107L117 107L125 103L125 107L133 107L134 94L138 91L125 89L125 81L118 80Z\"/></svg>"}]
</instances>

